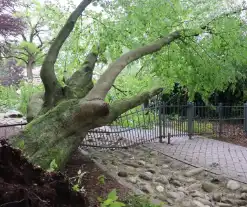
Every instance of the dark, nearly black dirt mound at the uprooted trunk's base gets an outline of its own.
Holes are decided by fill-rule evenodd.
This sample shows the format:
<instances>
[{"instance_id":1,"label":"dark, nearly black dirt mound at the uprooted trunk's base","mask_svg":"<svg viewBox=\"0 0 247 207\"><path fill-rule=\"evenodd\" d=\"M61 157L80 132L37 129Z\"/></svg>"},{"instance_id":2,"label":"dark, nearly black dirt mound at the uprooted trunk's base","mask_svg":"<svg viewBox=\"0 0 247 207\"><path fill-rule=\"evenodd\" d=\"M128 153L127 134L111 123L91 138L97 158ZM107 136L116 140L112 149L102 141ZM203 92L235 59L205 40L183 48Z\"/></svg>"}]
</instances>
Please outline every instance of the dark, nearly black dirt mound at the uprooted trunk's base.
<instances>
[{"instance_id":1,"label":"dark, nearly black dirt mound at the uprooted trunk's base","mask_svg":"<svg viewBox=\"0 0 247 207\"><path fill-rule=\"evenodd\" d=\"M88 207L87 198L71 187L64 175L33 166L0 141L0 207Z\"/></svg>"}]
</instances>

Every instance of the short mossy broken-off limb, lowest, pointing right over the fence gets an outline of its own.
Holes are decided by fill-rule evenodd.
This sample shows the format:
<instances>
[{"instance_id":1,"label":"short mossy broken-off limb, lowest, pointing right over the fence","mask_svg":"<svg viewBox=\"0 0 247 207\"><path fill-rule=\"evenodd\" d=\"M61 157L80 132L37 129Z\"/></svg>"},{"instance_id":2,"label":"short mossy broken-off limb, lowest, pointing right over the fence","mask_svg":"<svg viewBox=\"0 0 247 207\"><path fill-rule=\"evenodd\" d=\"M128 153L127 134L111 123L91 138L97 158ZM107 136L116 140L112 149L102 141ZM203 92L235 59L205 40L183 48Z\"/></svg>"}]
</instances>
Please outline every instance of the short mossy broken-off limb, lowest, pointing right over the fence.
<instances>
[{"instance_id":1,"label":"short mossy broken-off limb, lowest, pointing right over the fence","mask_svg":"<svg viewBox=\"0 0 247 207\"><path fill-rule=\"evenodd\" d=\"M154 88L151 91L145 91L140 93L139 95L133 96L131 98L126 98L122 100L118 100L113 102L110 105L110 114L107 118L107 121L110 122L117 119L121 114L125 113L126 111L139 106L140 104L144 103L148 99L152 98L160 94L163 91L163 88Z\"/></svg>"}]
</instances>

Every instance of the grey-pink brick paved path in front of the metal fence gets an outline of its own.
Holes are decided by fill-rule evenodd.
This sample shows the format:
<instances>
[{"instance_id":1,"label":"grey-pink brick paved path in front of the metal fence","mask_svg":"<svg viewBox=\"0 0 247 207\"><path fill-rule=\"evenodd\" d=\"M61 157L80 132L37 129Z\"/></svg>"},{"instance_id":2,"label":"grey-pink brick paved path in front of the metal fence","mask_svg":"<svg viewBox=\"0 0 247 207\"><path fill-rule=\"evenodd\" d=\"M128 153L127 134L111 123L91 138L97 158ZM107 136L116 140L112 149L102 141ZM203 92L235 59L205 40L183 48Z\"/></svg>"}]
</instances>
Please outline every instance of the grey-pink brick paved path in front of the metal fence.
<instances>
[{"instance_id":1,"label":"grey-pink brick paved path in front of the metal fence","mask_svg":"<svg viewBox=\"0 0 247 207\"><path fill-rule=\"evenodd\" d=\"M173 137L171 145L145 146L207 170L247 183L247 148L204 137Z\"/></svg>"}]
</instances>

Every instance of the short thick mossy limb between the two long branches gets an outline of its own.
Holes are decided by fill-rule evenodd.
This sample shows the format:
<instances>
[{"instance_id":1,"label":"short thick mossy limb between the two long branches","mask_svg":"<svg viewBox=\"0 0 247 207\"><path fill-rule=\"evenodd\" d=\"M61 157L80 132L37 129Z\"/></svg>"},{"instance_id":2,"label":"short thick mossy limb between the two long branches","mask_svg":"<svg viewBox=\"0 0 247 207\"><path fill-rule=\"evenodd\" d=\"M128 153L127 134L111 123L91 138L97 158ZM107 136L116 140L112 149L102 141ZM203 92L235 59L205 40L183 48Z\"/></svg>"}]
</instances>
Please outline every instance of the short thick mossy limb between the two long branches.
<instances>
[{"instance_id":1,"label":"short thick mossy limb between the two long branches","mask_svg":"<svg viewBox=\"0 0 247 207\"><path fill-rule=\"evenodd\" d=\"M67 98L83 98L93 88L92 77L97 57L97 54L89 53L81 68L65 82Z\"/></svg>"}]
</instances>

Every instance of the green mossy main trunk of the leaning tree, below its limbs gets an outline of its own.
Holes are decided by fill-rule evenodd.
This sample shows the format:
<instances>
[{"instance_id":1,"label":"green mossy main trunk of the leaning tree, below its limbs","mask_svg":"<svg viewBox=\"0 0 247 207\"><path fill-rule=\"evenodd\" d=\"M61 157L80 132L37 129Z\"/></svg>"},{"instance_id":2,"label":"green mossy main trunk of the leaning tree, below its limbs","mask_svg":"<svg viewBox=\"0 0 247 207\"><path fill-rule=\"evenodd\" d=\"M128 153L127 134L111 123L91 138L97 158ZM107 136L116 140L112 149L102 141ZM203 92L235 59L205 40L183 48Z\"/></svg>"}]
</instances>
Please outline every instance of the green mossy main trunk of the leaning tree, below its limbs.
<instances>
[{"instance_id":1,"label":"green mossy main trunk of the leaning tree, below its limbs","mask_svg":"<svg viewBox=\"0 0 247 207\"><path fill-rule=\"evenodd\" d=\"M20 147L24 140L23 152L31 162L47 169L55 159L61 169L90 129L90 126L74 121L77 110L78 100L64 101L30 122L20 135L11 139L11 143Z\"/></svg>"}]
</instances>

